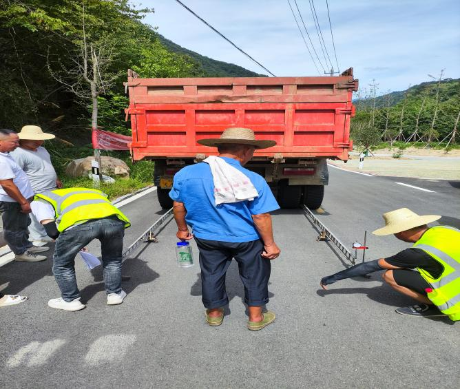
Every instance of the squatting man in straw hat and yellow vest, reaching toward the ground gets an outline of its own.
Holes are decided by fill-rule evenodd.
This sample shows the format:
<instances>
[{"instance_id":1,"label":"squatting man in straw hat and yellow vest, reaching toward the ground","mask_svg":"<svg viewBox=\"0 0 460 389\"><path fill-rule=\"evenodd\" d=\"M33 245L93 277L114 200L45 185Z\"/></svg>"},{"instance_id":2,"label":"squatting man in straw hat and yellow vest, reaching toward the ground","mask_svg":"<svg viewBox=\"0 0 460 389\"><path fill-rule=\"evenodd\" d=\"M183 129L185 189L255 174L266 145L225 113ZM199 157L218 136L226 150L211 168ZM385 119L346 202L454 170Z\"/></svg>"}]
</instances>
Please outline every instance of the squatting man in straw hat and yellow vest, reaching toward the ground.
<instances>
[{"instance_id":1,"label":"squatting man in straw hat and yellow vest, reaching toward the ground","mask_svg":"<svg viewBox=\"0 0 460 389\"><path fill-rule=\"evenodd\" d=\"M396 291L416 299L419 304L397 308L401 315L444 316L460 320L460 230L448 226L428 227L439 215L417 215L407 208L384 213L386 226L375 235L394 234L413 243L391 257L357 264L321 280L332 284L344 278L386 269L384 280ZM413 271L416 269L417 271Z\"/></svg>"}]
</instances>

